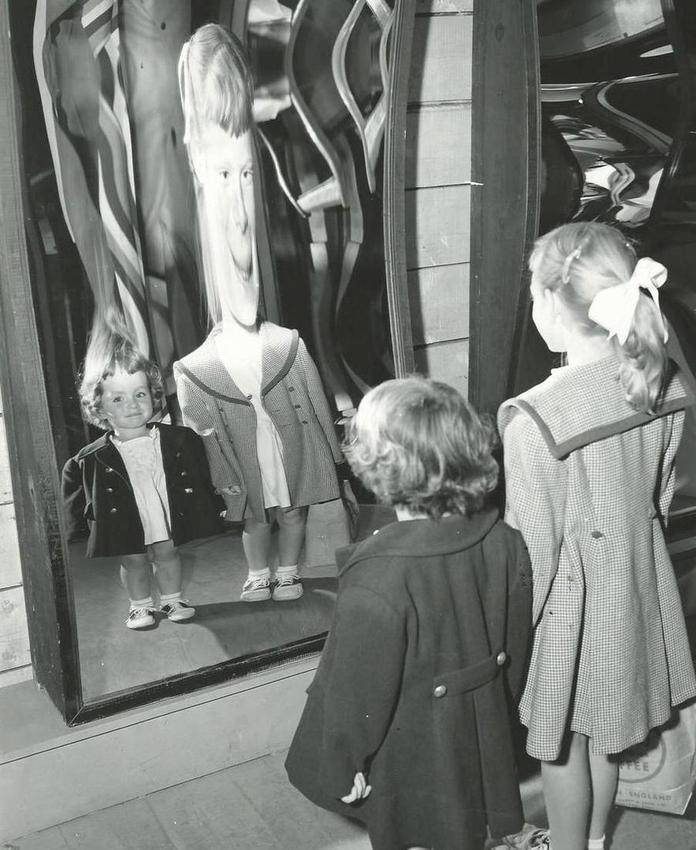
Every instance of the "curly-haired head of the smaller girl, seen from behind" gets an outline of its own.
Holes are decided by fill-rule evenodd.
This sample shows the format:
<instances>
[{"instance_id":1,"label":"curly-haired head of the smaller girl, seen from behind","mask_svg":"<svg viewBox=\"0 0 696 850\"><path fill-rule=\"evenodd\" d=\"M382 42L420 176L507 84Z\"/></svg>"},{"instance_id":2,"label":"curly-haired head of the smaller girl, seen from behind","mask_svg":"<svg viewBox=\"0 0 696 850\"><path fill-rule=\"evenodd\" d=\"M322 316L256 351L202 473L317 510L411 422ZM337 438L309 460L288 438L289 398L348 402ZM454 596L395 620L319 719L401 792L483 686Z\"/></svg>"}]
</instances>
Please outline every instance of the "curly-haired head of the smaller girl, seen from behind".
<instances>
[{"instance_id":1,"label":"curly-haired head of the smaller girl, seen from behind","mask_svg":"<svg viewBox=\"0 0 696 850\"><path fill-rule=\"evenodd\" d=\"M347 428L353 472L380 502L437 519L480 510L498 481L492 425L452 387L420 377L370 390Z\"/></svg>"}]
</instances>

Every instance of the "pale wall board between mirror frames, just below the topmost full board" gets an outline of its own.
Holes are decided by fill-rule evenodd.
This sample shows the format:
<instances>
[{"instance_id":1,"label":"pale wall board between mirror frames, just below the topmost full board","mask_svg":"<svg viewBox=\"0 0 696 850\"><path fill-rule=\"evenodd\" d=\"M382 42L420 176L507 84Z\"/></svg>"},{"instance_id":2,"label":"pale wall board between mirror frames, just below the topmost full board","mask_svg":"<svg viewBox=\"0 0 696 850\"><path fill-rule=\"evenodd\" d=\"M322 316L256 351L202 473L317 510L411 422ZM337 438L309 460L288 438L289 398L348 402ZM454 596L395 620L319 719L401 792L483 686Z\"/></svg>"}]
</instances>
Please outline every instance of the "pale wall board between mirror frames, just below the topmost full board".
<instances>
[{"instance_id":1,"label":"pale wall board between mirror frames, just below the topmost full board","mask_svg":"<svg viewBox=\"0 0 696 850\"><path fill-rule=\"evenodd\" d=\"M406 188L471 180L471 104L424 104L406 116Z\"/></svg>"}]
</instances>

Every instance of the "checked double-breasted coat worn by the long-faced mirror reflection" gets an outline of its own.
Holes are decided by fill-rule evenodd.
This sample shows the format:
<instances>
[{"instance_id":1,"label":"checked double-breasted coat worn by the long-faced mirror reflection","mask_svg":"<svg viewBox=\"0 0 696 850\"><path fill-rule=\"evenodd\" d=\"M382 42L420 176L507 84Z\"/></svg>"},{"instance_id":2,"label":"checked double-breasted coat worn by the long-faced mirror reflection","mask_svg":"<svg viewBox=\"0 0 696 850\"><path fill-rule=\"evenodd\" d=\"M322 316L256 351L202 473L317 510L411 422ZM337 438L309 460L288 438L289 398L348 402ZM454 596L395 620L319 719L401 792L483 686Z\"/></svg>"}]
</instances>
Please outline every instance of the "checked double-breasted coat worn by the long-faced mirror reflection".
<instances>
[{"instance_id":1,"label":"checked double-breasted coat worn by the long-faced mirror reflection","mask_svg":"<svg viewBox=\"0 0 696 850\"><path fill-rule=\"evenodd\" d=\"M213 484L223 493L227 519L266 521L256 454L256 413L232 380L215 346L214 328L195 351L174 364L184 422L205 443ZM263 404L283 445L285 475L293 507L340 496L336 464L343 460L321 379L297 331L263 322Z\"/></svg>"}]
</instances>

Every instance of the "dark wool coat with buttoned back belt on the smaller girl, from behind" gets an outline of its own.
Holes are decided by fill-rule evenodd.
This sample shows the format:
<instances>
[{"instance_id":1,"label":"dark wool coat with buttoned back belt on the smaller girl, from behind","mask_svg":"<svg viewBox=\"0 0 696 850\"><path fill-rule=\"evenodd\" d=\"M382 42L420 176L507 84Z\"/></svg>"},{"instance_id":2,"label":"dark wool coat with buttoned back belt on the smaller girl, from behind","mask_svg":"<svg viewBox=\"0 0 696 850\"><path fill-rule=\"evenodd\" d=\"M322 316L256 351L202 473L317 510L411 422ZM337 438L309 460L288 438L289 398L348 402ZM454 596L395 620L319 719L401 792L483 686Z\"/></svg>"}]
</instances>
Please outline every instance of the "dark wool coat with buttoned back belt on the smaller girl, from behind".
<instances>
[{"instance_id":1,"label":"dark wool coat with buttoned back belt on the smaller girl, from behind","mask_svg":"<svg viewBox=\"0 0 696 850\"><path fill-rule=\"evenodd\" d=\"M509 693L521 688L531 569L486 511L395 522L339 550L333 628L288 753L316 804L375 850L480 850L523 824ZM370 796L346 805L356 772Z\"/></svg>"}]
</instances>

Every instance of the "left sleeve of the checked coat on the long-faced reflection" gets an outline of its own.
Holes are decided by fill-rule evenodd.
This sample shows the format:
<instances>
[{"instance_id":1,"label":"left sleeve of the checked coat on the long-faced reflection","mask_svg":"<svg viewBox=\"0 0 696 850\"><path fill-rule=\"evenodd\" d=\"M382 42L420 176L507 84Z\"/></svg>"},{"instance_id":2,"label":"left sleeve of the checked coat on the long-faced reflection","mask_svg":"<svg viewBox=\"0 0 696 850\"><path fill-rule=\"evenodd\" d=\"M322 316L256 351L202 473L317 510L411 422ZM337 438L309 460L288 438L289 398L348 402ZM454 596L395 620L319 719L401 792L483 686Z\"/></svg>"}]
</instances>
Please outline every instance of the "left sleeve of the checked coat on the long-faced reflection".
<instances>
[{"instance_id":1,"label":"left sleeve of the checked coat on the long-faced reflection","mask_svg":"<svg viewBox=\"0 0 696 850\"><path fill-rule=\"evenodd\" d=\"M178 363L174 364L174 379L184 425L195 431L203 441L213 487L222 495L227 508L237 512L239 499L244 498L246 488L241 468L234 457L234 450L230 445L223 451L203 392L178 368ZM242 497L225 493L224 490L228 487L241 488Z\"/></svg>"}]
</instances>

